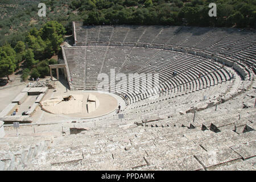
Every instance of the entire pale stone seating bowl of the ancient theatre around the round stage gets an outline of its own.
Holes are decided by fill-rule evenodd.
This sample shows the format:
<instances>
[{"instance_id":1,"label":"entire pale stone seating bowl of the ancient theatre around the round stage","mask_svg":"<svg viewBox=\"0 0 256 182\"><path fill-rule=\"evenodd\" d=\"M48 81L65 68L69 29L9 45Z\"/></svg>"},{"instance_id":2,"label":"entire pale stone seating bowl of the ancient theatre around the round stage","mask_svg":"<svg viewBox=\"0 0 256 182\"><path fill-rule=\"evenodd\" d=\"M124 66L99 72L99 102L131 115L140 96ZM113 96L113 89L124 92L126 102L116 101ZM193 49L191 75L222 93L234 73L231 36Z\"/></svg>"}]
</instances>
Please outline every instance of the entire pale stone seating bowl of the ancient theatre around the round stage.
<instances>
[{"instance_id":1,"label":"entire pale stone seating bowl of the ancient theatre around the round stage","mask_svg":"<svg viewBox=\"0 0 256 182\"><path fill-rule=\"evenodd\" d=\"M73 37L61 48L74 92L97 90L100 73L158 73L159 84L117 90L122 120L22 125L38 135L0 138L0 169L256 169L255 31L74 22Z\"/></svg>"}]
</instances>

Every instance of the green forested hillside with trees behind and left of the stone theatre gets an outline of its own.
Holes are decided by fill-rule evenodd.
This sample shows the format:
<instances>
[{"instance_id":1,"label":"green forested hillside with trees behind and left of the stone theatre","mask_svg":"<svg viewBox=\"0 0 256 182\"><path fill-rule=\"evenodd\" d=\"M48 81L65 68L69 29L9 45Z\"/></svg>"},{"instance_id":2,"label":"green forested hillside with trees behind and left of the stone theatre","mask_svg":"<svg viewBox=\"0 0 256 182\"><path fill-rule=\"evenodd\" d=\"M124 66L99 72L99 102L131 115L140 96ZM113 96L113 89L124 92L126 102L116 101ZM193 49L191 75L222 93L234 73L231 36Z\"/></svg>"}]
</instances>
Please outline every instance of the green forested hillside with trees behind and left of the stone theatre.
<instances>
[{"instance_id":1,"label":"green forested hillside with trees behind and left of the stone theatre","mask_svg":"<svg viewBox=\"0 0 256 182\"><path fill-rule=\"evenodd\" d=\"M46 4L46 17L38 4ZM210 17L209 3L217 16ZM72 21L85 25L159 24L207 27L256 27L255 0L1 0L0 77L8 77L24 61L23 80L49 75L49 60L60 50Z\"/></svg>"}]
</instances>

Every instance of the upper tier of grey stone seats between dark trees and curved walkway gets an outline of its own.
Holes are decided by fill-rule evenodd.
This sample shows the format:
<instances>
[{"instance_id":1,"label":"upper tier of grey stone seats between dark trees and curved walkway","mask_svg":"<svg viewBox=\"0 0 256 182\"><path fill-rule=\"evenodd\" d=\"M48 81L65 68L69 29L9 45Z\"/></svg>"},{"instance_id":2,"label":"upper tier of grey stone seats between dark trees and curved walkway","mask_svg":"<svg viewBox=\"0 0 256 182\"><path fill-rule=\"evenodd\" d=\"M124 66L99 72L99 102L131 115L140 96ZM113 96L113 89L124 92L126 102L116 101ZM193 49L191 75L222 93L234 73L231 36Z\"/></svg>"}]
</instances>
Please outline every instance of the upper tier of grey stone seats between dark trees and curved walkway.
<instances>
[{"instance_id":1,"label":"upper tier of grey stone seats between dark trees and curved walkway","mask_svg":"<svg viewBox=\"0 0 256 182\"><path fill-rule=\"evenodd\" d=\"M98 27L98 28L96 28ZM253 39L253 32L240 31L232 28L204 28L204 27L170 27L170 26L113 26L113 36L111 40L100 40L100 33L102 35L108 34L111 29L109 26L94 26L86 27L86 30L94 33L93 39L89 39L89 42L142 42L142 43L157 43L168 44L172 46L181 46L187 48L195 48L199 50L205 50L207 52L225 53L226 49L230 49L236 46L243 38ZM106 27L106 28L102 28ZM82 31L81 27L76 27L77 32ZM97 29L97 31L95 30ZM144 30L143 30L144 28ZM91 30L92 29L92 30ZM106 31L104 30L106 29ZM154 32L153 30L157 30ZM160 31L159 31L160 30ZM85 34L85 33L84 33ZM120 34L120 35L118 35ZM136 35L136 36L134 36ZM116 36L116 38L115 38ZM154 38L155 36L155 38ZM102 36L104 38L104 36ZM119 39L120 38L120 39ZM84 36L77 38L80 41L84 41ZM241 51L241 48L240 48Z\"/></svg>"}]
</instances>

